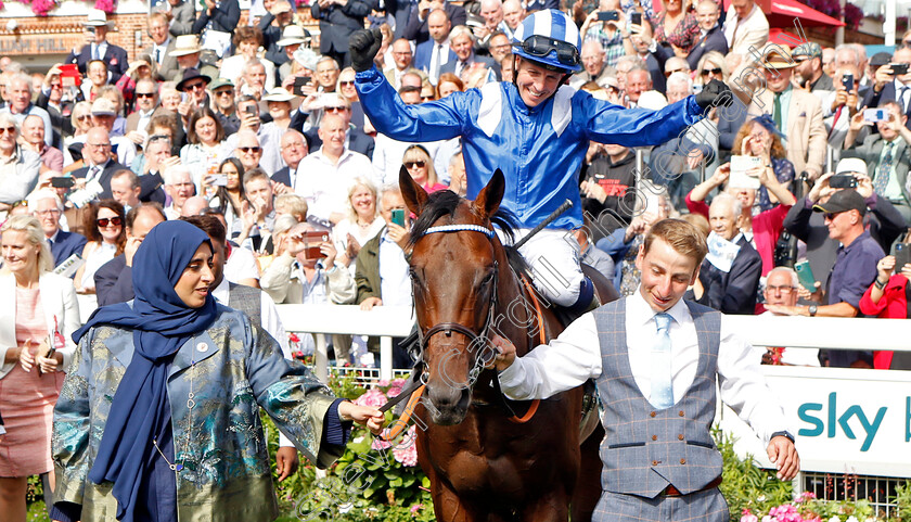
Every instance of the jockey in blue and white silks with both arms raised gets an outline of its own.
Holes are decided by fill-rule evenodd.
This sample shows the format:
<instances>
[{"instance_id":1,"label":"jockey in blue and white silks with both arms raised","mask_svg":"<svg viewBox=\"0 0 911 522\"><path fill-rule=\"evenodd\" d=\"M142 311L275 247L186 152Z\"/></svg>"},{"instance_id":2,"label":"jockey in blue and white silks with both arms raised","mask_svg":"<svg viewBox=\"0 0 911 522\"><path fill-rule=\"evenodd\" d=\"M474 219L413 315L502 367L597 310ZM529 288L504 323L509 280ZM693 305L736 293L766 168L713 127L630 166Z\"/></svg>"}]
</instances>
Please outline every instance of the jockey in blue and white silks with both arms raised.
<instances>
[{"instance_id":1,"label":"jockey in blue and white silks with both arms raised","mask_svg":"<svg viewBox=\"0 0 911 522\"><path fill-rule=\"evenodd\" d=\"M349 41L355 85L378 132L419 142L461 137L469 199L501 169L506 182L501 205L518 219L516 240L565 200L574 203L521 253L538 291L577 313L598 304L579 267L578 243L568 233L582 225L578 175L589 141L657 145L700 120L708 107L731 100L730 89L715 80L660 111L628 110L573 89L566 82L581 69L579 30L565 13L544 10L527 16L513 35L513 82L406 105L373 65L381 39L373 29L359 30Z\"/></svg>"}]
</instances>

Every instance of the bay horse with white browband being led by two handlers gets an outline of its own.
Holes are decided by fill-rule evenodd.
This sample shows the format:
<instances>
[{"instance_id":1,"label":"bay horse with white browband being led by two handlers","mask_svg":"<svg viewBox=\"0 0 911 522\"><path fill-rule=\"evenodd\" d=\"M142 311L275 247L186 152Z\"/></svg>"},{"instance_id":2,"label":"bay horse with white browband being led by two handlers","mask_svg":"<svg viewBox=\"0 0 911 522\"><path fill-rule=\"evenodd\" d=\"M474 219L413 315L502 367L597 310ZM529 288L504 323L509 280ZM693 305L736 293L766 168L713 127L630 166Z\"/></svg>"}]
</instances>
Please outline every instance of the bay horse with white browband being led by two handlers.
<instances>
[{"instance_id":1,"label":"bay horse with white browband being led by two handlers","mask_svg":"<svg viewBox=\"0 0 911 522\"><path fill-rule=\"evenodd\" d=\"M495 222L510 230L498 215L502 173L474 202L450 191L428 195L405 169L399 178L406 205L418 216L410 275L426 390L414 416L423 421L418 460L431 481L437 520L564 522L570 501L574 520L590 520L601 494L598 445L604 432L594 422L595 433L580 449L582 389L506 403L496 370L485 368L493 355L485 339L493 332L524 356L562 330L536 301L530 278L510 269L515 258L493 232Z\"/></svg>"}]
</instances>

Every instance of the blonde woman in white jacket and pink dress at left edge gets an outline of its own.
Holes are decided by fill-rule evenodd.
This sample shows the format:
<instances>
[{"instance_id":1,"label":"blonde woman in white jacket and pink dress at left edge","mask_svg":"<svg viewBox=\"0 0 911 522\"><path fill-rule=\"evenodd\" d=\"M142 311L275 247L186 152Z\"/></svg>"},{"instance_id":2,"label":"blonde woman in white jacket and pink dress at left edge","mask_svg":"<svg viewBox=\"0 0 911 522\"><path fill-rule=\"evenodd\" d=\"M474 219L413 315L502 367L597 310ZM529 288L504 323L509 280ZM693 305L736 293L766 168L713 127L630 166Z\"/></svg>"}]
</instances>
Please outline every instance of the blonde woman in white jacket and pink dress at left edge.
<instances>
[{"instance_id":1,"label":"blonde woman in white jacket and pink dress at left edge","mask_svg":"<svg viewBox=\"0 0 911 522\"><path fill-rule=\"evenodd\" d=\"M37 218L13 216L0 234L0 410L7 430L0 438L0 513L24 522L28 476L49 473L54 487L51 420L76 349L79 306L73 281L51 271L53 255Z\"/></svg>"}]
</instances>

